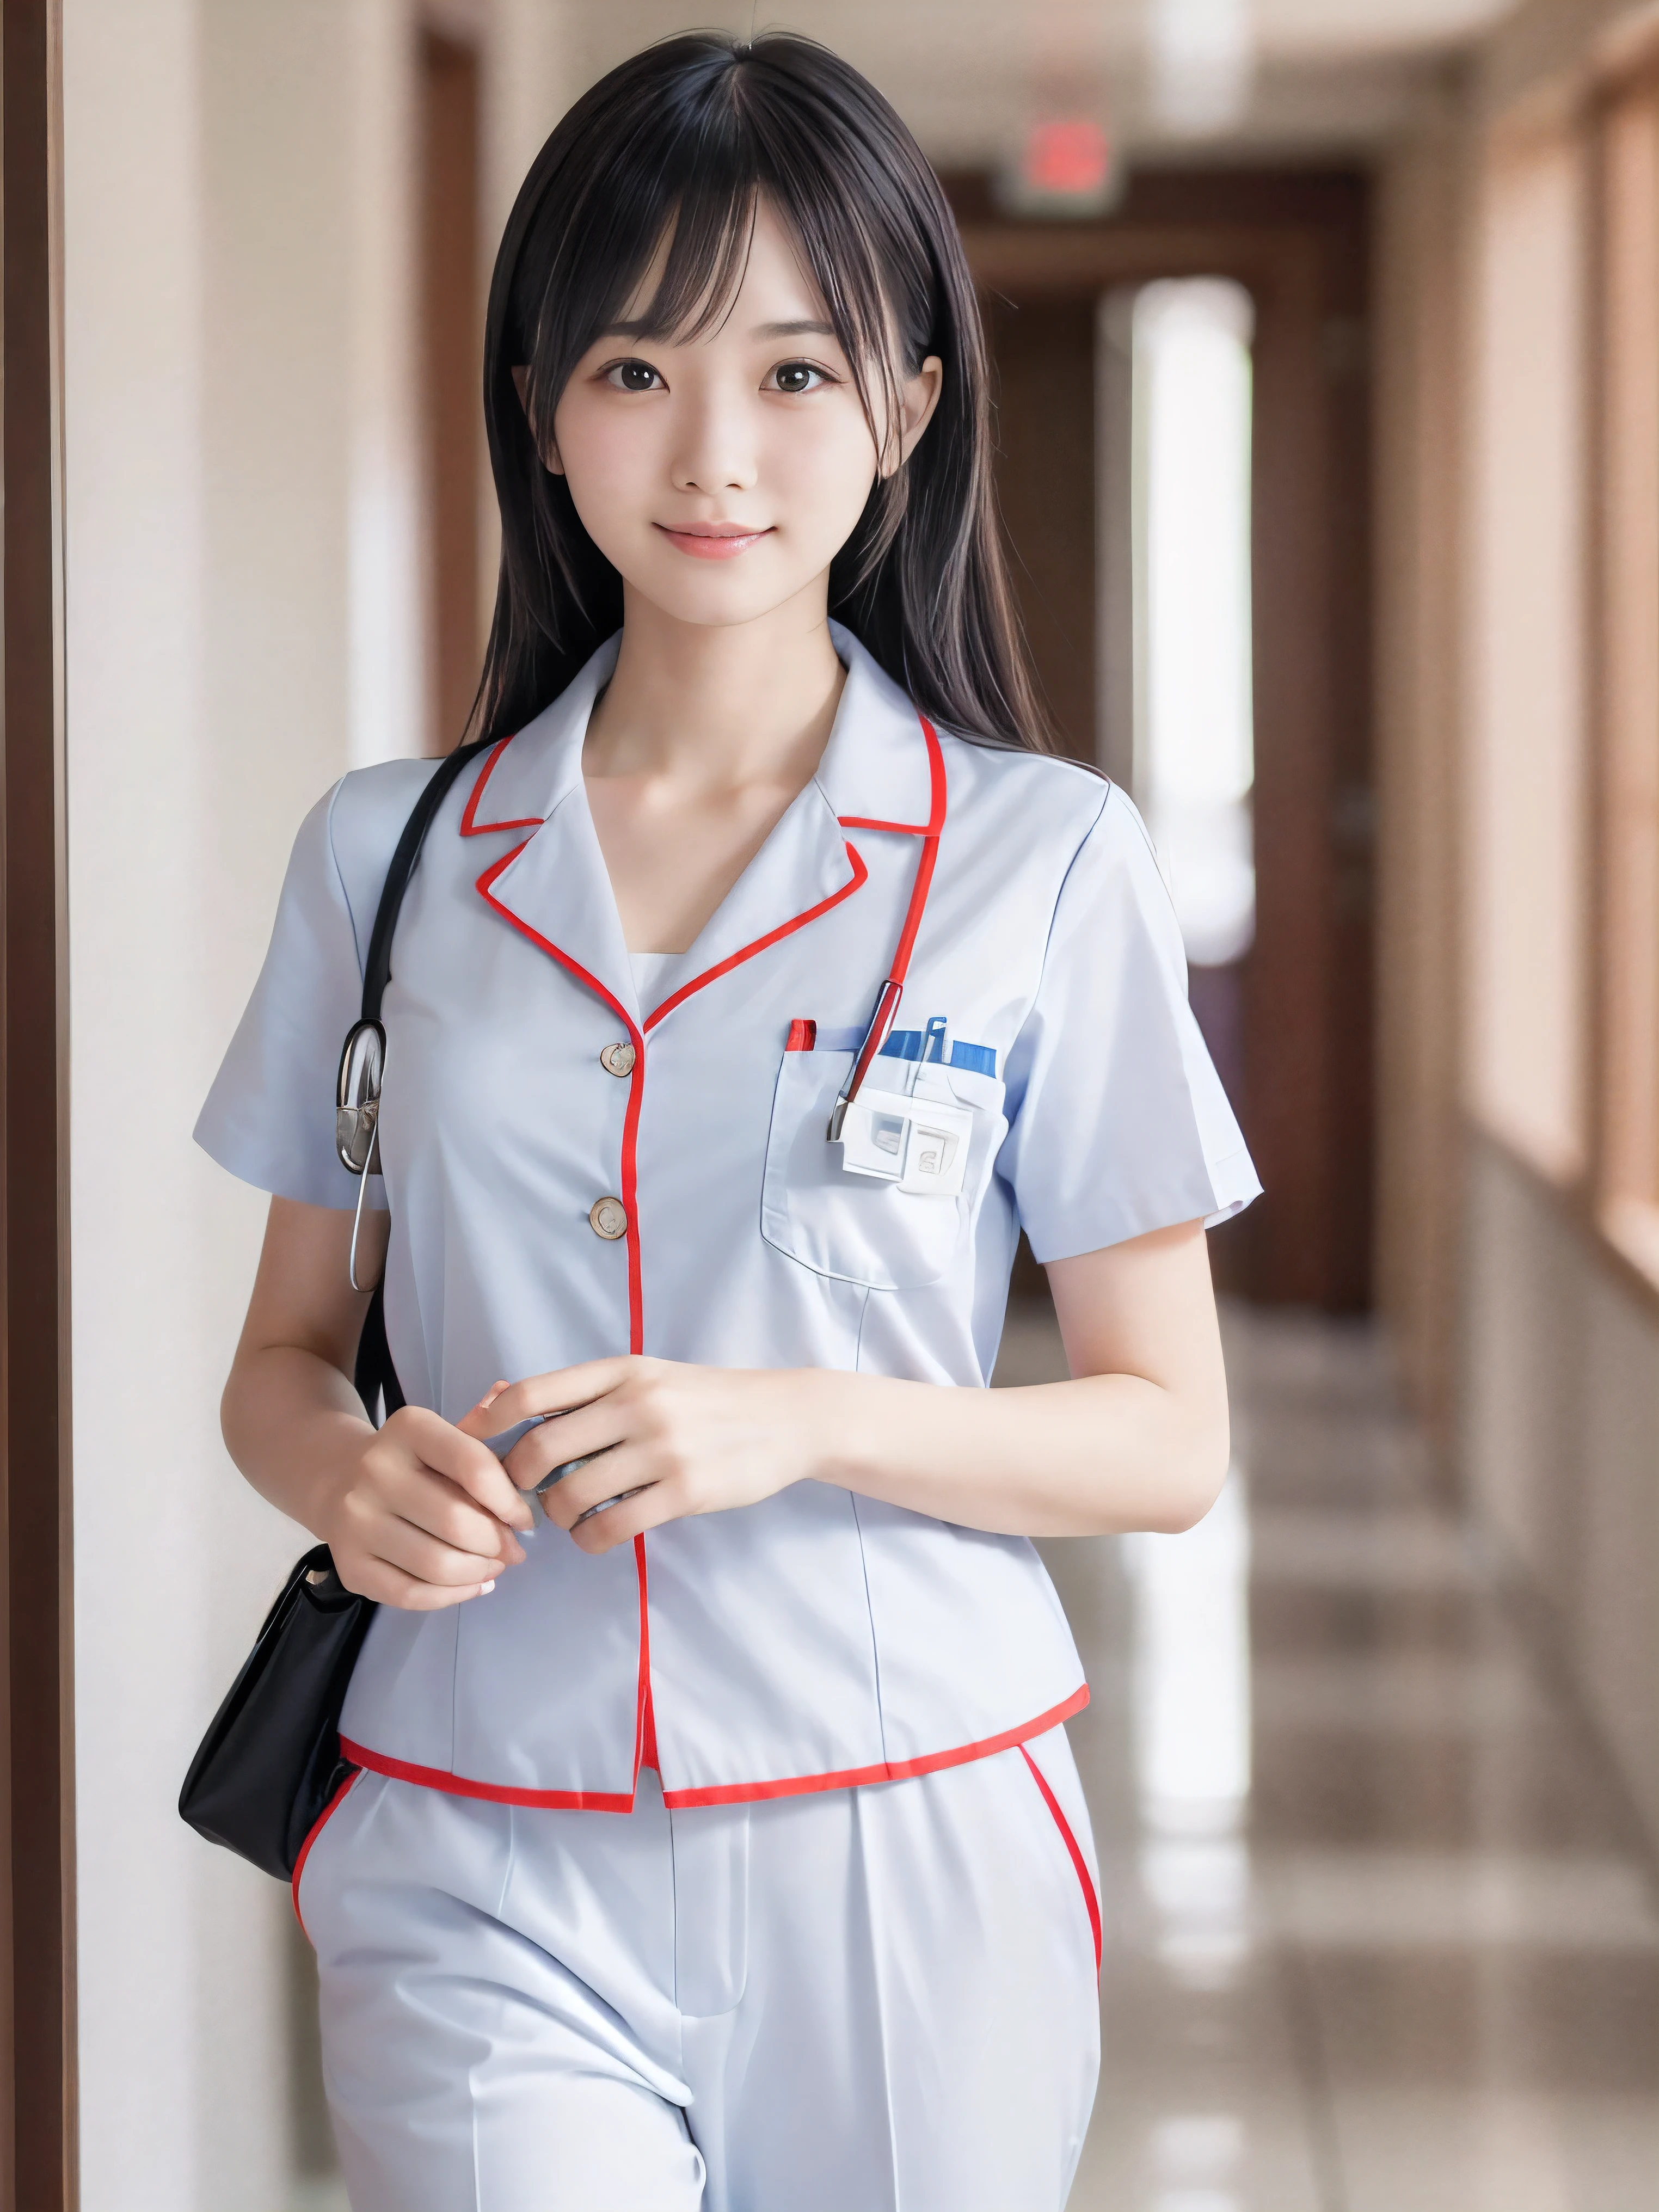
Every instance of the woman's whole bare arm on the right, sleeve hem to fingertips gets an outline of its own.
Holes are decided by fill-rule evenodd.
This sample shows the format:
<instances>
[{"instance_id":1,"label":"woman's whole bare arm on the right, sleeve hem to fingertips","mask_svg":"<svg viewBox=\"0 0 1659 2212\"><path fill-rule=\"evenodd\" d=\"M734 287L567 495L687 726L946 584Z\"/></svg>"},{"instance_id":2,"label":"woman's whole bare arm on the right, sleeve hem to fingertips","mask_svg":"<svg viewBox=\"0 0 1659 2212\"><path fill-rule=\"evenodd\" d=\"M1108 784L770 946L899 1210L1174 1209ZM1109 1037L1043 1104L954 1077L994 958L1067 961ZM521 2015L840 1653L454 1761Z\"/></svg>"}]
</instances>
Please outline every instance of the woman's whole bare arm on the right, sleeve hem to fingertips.
<instances>
[{"instance_id":1,"label":"woman's whole bare arm on the right, sleeve hem to fingertips","mask_svg":"<svg viewBox=\"0 0 1659 2212\"><path fill-rule=\"evenodd\" d=\"M1201 1223L1055 1261L1048 1281L1071 1383L975 1389L604 1358L526 1376L460 1427L484 1438L531 1422L507 1473L524 1491L557 1475L542 1504L588 1553L792 1482L998 1535L1190 1528L1228 1471Z\"/></svg>"}]
</instances>

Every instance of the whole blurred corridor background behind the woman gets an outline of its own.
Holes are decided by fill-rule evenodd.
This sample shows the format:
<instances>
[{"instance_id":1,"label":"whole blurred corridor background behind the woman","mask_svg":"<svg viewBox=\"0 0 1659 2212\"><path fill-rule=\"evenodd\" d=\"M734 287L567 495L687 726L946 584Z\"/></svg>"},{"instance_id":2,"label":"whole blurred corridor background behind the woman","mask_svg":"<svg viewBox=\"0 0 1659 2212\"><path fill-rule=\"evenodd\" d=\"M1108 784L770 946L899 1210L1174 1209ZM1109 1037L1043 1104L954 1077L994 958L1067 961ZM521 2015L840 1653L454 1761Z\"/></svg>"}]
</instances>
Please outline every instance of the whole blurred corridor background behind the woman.
<instances>
[{"instance_id":1,"label":"whole blurred corridor background behind the woman","mask_svg":"<svg viewBox=\"0 0 1659 2212\"><path fill-rule=\"evenodd\" d=\"M518 179L699 20L947 181L1042 679L1267 1183L1221 1506L1051 1546L1073 2205L1655 2212L1648 0L64 0L84 2203L343 2205L288 1898L173 1814L296 1548L215 1425L263 1201L188 1133L305 807L460 734ZM1026 1265L998 1378L1060 1371Z\"/></svg>"}]
</instances>

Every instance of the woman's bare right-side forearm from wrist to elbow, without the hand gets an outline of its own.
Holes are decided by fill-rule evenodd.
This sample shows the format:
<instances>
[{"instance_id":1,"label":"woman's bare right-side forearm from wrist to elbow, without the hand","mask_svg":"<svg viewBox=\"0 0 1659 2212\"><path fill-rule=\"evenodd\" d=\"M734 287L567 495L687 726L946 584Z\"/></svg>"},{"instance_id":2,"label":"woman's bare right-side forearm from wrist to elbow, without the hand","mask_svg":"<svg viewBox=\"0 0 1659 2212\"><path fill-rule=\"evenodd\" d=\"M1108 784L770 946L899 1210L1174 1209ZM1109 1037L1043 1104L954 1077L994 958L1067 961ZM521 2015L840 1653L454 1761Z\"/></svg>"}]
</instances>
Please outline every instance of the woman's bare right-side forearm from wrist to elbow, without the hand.
<instances>
[{"instance_id":1,"label":"woman's bare right-side forearm from wrist to elbow, without the hand","mask_svg":"<svg viewBox=\"0 0 1659 2212\"><path fill-rule=\"evenodd\" d=\"M1099 1374L1026 1389L792 1374L814 1473L1004 1535L1190 1528L1228 1471L1223 1391Z\"/></svg>"}]
</instances>

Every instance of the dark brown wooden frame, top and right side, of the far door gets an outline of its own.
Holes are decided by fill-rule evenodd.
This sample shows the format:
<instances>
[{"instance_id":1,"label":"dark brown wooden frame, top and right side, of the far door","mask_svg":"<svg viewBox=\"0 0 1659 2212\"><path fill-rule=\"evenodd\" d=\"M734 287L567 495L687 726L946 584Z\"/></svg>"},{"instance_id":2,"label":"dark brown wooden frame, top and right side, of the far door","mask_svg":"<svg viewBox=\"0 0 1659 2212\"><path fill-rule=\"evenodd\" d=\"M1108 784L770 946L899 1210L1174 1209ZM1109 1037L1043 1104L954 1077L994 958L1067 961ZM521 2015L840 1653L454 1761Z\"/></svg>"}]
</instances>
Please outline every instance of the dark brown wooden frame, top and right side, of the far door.
<instances>
[{"instance_id":1,"label":"dark brown wooden frame, top and right side, of the far door","mask_svg":"<svg viewBox=\"0 0 1659 2212\"><path fill-rule=\"evenodd\" d=\"M1013 221L982 177L947 177L984 292L1077 296L1157 276L1232 276L1256 303L1254 637L1259 805L1250 1137L1272 1203L1237 1239L1239 1276L1327 1310L1371 1301L1371 584L1367 177L1148 170L1106 219ZM1318 887L1316 942L1274 887ZM1263 1002L1263 975L1296 989ZM1345 1124L1325 1157L1298 1130ZM1354 1172L1363 1161L1363 1172Z\"/></svg>"}]
</instances>

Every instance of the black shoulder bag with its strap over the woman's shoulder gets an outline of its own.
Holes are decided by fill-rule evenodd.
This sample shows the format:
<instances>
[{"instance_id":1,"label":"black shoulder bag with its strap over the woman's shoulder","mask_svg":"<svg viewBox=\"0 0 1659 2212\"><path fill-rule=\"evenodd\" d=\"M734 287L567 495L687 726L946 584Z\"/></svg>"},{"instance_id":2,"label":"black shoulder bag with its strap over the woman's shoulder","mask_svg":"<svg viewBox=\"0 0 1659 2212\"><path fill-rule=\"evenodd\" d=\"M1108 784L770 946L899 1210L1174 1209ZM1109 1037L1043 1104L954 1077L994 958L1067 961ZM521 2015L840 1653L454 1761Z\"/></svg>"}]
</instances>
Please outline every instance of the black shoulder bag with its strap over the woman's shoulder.
<instances>
[{"instance_id":1,"label":"black shoulder bag with its strap over the woman's shoulder","mask_svg":"<svg viewBox=\"0 0 1659 2212\"><path fill-rule=\"evenodd\" d=\"M482 750L460 745L438 768L403 825L363 964L363 1018L341 1053L336 1133L341 1161L367 1181L376 1157L385 1031L380 998L392 975L392 936L431 818L456 776ZM358 1188L358 1219L363 1190ZM356 1265L356 1230L352 1232ZM385 1292L363 1321L356 1389L380 1422L405 1402L385 1334ZM301 1559L265 1615L252 1652L212 1717L179 1792L179 1814L208 1843L290 1880L301 1847L349 1772L341 1759L341 1708L374 1604L334 1573L327 1544Z\"/></svg>"}]
</instances>

